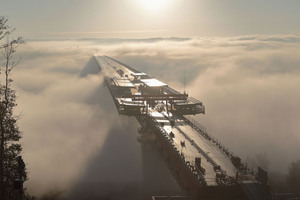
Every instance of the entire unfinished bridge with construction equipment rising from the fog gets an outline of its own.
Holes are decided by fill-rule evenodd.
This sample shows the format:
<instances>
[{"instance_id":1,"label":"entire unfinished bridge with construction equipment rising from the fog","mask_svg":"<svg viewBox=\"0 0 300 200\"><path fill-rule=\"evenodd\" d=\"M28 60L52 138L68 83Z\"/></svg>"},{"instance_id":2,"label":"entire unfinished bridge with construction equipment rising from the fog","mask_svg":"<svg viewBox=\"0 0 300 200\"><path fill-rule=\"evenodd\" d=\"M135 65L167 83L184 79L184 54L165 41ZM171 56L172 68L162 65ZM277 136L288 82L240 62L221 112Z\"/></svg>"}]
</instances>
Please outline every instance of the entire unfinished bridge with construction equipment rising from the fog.
<instances>
[{"instance_id":1,"label":"entire unfinished bridge with construction equipment rising from the fog","mask_svg":"<svg viewBox=\"0 0 300 200\"><path fill-rule=\"evenodd\" d=\"M256 189L254 172L187 116L205 114L201 101L115 59L95 59L118 112L136 117L138 141L158 147L184 191L205 198L253 199L259 194L254 199L267 199Z\"/></svg>"}]
</instances>

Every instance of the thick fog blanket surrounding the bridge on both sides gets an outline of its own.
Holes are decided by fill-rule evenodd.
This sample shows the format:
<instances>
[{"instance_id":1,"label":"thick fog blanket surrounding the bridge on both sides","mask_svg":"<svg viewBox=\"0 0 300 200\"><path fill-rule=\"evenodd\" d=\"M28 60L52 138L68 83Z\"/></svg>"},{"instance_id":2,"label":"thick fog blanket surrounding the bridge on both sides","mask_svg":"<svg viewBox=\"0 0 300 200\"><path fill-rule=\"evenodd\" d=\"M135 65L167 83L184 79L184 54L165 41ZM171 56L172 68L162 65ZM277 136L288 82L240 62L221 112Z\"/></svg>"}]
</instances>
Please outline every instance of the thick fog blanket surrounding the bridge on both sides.
<instances>
[{"instance_id":1,"label":"thick fog blanket surrounding the bridge on both sides","mask_svg":"<svg viewBox=\"0 0 300 200\"><path fill-rule=\"evenodd\" d=\"M81 181L118 185L97 197L143 191L138 124L118 115L92 55L113 57L179 91L185 88L206 106L196 118L211 135L249 164L265 155L269 171L285 173L300 159L299 38L28 41L18 49L22 61L13 73L30 178L25 186L38 196L54 190L71 195ZM121 174L114 173L118 169Z\"/></svg>"}]
</instances>

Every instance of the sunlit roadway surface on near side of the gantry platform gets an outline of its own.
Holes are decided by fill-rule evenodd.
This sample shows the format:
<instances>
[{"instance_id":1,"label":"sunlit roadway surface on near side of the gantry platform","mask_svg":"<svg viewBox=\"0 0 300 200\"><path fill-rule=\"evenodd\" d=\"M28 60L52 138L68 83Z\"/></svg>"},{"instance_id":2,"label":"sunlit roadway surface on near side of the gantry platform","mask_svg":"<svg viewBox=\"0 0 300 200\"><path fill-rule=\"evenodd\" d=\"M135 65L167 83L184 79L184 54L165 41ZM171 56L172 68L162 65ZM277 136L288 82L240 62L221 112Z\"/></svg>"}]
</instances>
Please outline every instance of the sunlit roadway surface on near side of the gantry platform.
<instances>
[{"instance_id":1,"label":"sunlit roadway surface on near side of the gantry platform","mask_svg":"<svg viewBox=\"0 0 300 200\"><path fill-rule=\"evenodd\" d=\"M172 116L171 113L157 112L153 109L149 114L158 123L163 123L163 129L168 133L169 138L172 138L173 144L180 153L183 154L185 161L191 164L195 163L195 158L201 158L201 166L205 169L204 179L209 186L217 185L216 172L214 166L221 166L227 175L235 177L237 169L233 166L230 158L213 142L204 138L196 129L186 123L180 116ZM175 125L172 127L169 121L172 118ZM170 133L174 134L174 138ZM185 145L182 146L181 142Z\"/></svg>"}]
</instances>

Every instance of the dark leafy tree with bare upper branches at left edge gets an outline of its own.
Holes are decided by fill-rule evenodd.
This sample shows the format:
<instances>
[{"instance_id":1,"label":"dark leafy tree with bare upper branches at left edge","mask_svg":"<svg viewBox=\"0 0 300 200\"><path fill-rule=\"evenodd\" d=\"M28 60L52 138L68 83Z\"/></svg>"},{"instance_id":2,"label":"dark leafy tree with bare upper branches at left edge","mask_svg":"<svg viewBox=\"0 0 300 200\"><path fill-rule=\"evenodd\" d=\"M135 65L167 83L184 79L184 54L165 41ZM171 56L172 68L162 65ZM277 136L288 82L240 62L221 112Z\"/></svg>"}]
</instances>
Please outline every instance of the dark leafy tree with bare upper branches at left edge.
<instances>
[{"instance_id":1,"label":"dark leafy tree with bare upper branches at left edge","mask_svg":"<svg viewBox=\"0 0 300 200\"><path fill-rule=\"evenodd\" d=\"M17 125L17 117L13 115L16 95L11 88L11 72L19 63L14 61L13 56L23 39L10 39L14 29L7 25L7 21L6 17L0 17L0 199L3 200L20 198L20 193L14 189L14 181L20 178L18 158L22 151L18 143L21 132Z\"/></svg>"}]
</instances>

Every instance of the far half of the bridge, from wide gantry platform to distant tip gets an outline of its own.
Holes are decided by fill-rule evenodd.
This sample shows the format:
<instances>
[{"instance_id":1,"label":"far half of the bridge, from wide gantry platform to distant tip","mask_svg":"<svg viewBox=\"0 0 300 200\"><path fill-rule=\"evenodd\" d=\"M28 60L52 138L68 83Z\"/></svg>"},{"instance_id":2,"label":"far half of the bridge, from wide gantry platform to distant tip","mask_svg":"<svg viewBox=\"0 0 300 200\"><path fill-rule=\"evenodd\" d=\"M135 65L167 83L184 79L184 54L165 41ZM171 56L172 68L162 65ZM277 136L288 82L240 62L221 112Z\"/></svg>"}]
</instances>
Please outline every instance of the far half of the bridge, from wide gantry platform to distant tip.
<instances>
[{"instance_id":1,"label":"far half of the bridge, from wide gantry platform to distant tip","mask_svg":"<svg viewBox=\"0 0 300 200\"><path fill-rule=\"evenodd\" d=\"M181 115L205 113L202 102L188 97L188 94L181 94L145 73L125 68L106 57L97 57L97 60L101 66L106 65L103 67L107 71L105 82L120 114L147 114L157 110L157 107L164 108L167 113Z\"/></svg>"}]
</instances>

